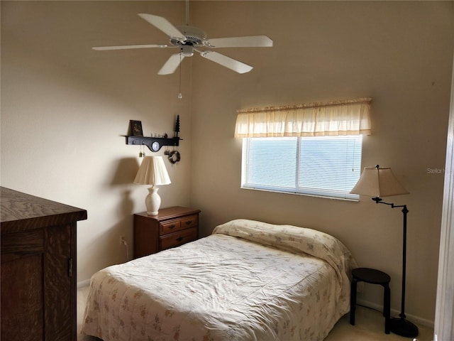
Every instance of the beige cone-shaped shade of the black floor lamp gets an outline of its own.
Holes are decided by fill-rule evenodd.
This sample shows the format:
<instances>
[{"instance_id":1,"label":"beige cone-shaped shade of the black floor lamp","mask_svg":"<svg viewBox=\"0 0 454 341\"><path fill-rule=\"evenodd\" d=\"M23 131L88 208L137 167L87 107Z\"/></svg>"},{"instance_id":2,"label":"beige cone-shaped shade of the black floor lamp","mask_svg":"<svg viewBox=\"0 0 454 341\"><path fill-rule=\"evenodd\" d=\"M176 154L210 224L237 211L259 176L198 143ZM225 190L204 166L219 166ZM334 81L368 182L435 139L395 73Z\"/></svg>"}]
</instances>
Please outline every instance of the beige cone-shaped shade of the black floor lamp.
<instances>
[{"instance_id":1,"label":"beige cone-shaped shade of the black floor lamp","mask_svg":"<svg viewBox=\"0 0 454 341\"><path fill-rule=\"evenodd\" d=\"M390 197L392 195L409 194L397 181L389 167L365 167L360 180L350 190L352 194L370 197Z\"/></svg>"}]
</instances>

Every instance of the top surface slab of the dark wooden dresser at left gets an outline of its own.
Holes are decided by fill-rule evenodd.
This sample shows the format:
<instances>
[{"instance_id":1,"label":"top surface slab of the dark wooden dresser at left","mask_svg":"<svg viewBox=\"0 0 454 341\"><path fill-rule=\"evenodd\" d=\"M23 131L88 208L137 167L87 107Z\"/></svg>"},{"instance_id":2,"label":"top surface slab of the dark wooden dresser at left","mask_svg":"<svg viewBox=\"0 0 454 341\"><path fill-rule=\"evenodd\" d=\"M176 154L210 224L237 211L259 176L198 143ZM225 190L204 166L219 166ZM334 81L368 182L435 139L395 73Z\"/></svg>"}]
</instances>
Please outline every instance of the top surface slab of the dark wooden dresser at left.
<instances>
[{"instance_id":1,"label":"top surface slab of the dark wooden dresser at left","mask_svg":"<svg viewBox=\"0 0 454 341\"><path fill-rule=\"evenodd\" d=\"M86 220L81 208L0 187L1 233Z\"/></svg>"}]
</instances>

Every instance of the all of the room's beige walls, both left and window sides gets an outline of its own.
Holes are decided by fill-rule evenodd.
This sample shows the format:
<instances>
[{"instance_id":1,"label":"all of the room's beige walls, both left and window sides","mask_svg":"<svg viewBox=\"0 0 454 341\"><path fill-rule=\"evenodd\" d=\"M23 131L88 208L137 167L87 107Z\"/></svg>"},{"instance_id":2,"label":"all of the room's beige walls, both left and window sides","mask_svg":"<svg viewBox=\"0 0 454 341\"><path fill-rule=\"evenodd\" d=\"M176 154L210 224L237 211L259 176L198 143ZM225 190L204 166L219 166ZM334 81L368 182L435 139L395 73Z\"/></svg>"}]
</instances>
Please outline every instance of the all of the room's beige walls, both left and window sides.
<instances>
[{"instance_id":1,"label":"all of the room's beige walls, both left and window sides","mask_svg":"<svg viewBox=\"0 0 454 341\"><path fill-rule=\"evenodd\" d=\"M201 233L237 217L314 227L341 239L360 266L392 276L399 310L402 213L360 202L240 190L236 109L370 96L373 134L363 166L391 166L411 192L406 313L433 320L443 195L454 3L431 1L194 1L191 22L211 37L267 34L274 48L218 52L255 68L237 75L199 56L158 76L173 51L98 52L94 45L165 43L136 13L184 23L183 1L1 1L1 185L87 209L78 227L78 280L126 260L145 186L131 182L145 134L172 132L182 162L167 164L162 207L202 210ZM150 153L150 152L149 152ZM157 153L162 155L162 151ZM381 292L361 295L379 305Z\"/></svg>"}]
</instances>

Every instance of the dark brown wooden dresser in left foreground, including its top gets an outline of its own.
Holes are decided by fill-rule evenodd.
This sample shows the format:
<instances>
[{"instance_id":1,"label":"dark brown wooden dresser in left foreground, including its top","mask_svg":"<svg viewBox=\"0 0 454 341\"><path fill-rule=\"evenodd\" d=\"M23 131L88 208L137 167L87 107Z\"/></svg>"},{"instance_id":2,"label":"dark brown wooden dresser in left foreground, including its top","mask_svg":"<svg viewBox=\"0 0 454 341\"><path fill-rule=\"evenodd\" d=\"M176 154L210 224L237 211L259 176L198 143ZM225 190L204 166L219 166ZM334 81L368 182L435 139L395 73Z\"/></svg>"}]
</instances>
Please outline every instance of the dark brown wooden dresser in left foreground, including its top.
<instances>
[{"instance_id":1,"label":"dark brown wooden dresser in left foreground, including its top","mask_svg":"<svg viewBox=\"0 0 454 341\"><path fill-rule=\"evenodd\" d=\"M87 211L0 188L1 340L76 341L76 222Z\"/></svg>"}]
</instances>

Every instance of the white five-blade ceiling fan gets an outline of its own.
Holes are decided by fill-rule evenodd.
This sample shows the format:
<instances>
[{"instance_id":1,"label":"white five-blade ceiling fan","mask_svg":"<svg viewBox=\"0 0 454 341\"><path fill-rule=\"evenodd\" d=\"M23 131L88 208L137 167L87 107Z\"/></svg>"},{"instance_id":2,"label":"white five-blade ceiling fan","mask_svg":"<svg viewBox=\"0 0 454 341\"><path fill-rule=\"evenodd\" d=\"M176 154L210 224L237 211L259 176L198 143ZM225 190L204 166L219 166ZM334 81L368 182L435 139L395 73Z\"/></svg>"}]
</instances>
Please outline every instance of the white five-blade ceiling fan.
<instances>
[{"instance_id":1,"label":"white five-blade ceiling fan","mask_svg":"<svg viewBox=\"0 0 454 341\"><path fill-rule=\"evenodd\" d=\"M146 44L146 45L119 45L119 46L98 46L94 50L128 50L133 48L179 48L179 53L170 56L167 62L161 67L158 75L170 75L182 63L185 57L192 57L194 51L203 58L218 63L238 73L249 72L252 66L230 58L221 53L215 52L214 48L265 48L272 46L272 40L267 36L243 36L230 38L206 38L206 33L194 26L173 26L162 16L139 13L140 18L145 19L160 31L169 36L169 44Z\"/></svg>"}]
</instances>

